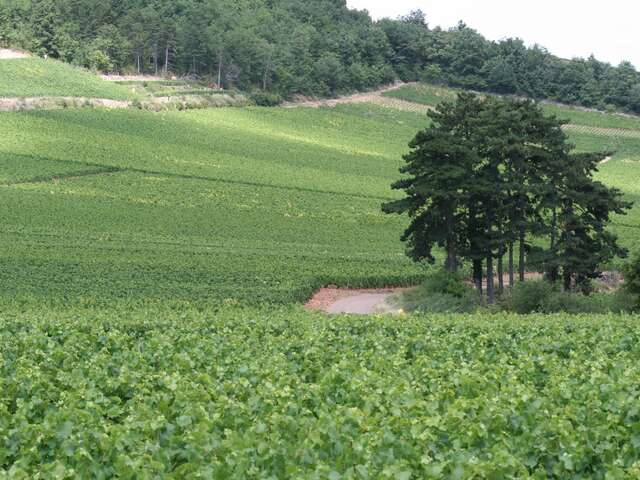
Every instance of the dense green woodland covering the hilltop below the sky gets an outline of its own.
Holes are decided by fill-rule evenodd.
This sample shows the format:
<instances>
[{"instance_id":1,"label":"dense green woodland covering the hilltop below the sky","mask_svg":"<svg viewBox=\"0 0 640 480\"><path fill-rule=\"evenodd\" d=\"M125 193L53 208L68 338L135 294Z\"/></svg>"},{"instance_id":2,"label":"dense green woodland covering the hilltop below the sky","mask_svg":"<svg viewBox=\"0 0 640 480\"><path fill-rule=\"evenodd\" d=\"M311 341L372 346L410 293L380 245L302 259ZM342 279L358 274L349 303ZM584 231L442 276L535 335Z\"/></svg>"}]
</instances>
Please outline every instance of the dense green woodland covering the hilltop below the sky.
<instances>
[{"instance_id":1,"label":"dense green woodland covering the hilltop below the sky","mask_svg":"<svg viewBox=\"0 0 640 480\"><path fill-rule=\"evenodd\" d=\"M345 0L3 0L0 43L85 67L330 96L424 80L640 113L633 65L493 42L421 11L373 22Z\"/></svg>"}]
</instances>

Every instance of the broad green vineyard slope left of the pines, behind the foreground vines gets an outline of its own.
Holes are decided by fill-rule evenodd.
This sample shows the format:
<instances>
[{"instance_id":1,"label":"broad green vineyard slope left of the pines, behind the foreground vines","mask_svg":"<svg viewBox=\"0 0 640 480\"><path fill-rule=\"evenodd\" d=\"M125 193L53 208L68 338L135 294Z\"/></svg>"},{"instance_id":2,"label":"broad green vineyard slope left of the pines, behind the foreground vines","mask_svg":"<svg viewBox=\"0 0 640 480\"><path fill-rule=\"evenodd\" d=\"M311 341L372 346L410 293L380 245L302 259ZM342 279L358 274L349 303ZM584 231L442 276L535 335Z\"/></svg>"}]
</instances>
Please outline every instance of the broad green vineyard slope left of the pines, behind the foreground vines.
<instances>
[{"instance_id":1,"label":"broad green vineyard slope left of the pines, behind the foreground vines","mask_svg":"<svg viewBox=\"0 0 640 480\"><path fill-rule=\"evenodd\" d=\"M417 284L379 204L397 139L423 121L373 106L2 113L2 296L291 303Z\"/></svg>"}]
</instances>

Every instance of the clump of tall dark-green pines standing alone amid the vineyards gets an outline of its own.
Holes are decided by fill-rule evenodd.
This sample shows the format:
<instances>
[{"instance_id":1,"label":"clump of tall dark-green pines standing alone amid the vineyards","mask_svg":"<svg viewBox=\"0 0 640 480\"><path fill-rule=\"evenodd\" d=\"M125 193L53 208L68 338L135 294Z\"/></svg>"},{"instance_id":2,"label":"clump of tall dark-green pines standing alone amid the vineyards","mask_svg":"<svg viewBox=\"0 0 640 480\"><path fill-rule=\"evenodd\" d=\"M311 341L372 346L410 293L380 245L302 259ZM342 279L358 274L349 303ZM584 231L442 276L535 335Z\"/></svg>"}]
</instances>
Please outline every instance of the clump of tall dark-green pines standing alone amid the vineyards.
<instances>
[{"instance_id":1,"label":"clump of tall dark-green pines standing alone amid the vineyards","mask_svg":"<svg viewBox=\"0 0 640 480\"><path fill-rule=\"evenodd\" d=\"M402 240L415 261L433 263L436 247L450 272L468 261L493 303L505 277L528 271L588 293L603 264L627 255L607 226L631 204L593 178L611 152L576 153L566 122L530 100L463 93L429 117L393 184L406 196L382 207L410 216Z\"/></svg>"}]
</instances>

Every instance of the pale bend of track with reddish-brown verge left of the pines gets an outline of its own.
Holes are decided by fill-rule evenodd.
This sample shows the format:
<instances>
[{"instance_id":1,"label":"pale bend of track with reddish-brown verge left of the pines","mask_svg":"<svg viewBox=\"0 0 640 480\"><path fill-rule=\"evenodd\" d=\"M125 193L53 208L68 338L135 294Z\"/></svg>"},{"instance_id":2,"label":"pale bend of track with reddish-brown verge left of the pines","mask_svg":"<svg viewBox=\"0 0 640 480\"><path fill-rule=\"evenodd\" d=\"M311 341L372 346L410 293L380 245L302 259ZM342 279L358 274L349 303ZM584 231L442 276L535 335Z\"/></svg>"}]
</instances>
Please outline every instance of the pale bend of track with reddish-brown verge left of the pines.
<instances>
[{"instance_id":1,"label":"pale bend of track with reddish-brown verge left of the pines","mask_svg":"<svg viewBox=\"0 0 640 480\"><path fill-rule=\"evenodd\" d=\"M331 314L396 313L397 308L388 303L390 297L409 288L348 289L327 287L318 290L305 304L308 310L320 310Z\"/></svg>"}]
</instances>

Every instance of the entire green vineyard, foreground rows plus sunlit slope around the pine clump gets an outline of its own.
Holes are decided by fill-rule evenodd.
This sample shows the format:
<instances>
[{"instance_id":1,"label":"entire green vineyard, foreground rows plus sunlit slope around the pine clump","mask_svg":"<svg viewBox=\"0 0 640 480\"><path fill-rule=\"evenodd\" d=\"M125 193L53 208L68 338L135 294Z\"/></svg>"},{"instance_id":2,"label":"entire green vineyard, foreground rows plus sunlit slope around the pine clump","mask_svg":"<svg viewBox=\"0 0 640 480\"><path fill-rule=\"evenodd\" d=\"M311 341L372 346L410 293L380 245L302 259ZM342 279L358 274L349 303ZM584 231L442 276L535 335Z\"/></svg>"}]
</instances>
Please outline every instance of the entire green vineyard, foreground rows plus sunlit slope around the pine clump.
<instances>
[{"instance_id":1,"label":"entire green vineyard, foreground rows plus sunlit slope around the pine clump","mask_svg":"<svg viewBox=\"0 0 640 480\"><path fill-rule=\"evenodd\" d=\"M640 205L635 120L575 115ZM426 124L0 113L0 479L638 478L637 316L300 306L424 276L380 204ZM640 207L613 229L640 250Z\"/></svg>"}]
</instances>

